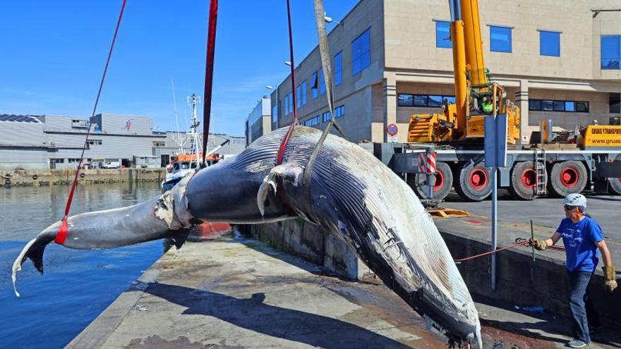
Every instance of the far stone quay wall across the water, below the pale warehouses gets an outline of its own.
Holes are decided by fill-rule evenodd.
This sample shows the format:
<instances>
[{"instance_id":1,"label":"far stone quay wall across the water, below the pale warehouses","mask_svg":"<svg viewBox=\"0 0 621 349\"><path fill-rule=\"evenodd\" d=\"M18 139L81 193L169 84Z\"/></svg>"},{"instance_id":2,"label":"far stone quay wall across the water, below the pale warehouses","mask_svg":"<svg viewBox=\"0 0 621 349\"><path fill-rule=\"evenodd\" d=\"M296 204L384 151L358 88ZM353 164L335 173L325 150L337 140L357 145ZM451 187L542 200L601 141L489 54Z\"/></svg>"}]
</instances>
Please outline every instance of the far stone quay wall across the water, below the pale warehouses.
<instances>
[{"instance_id":1,"label":"far stone quay wall across the water, below the pale warehouses","mask_svg":"<svg viewBox=\"0 0 621 349\"><path fill-rule=\"evenodd\" d=\"M24 187L32 185L69 185L76 169L11 170L0 171L2 185ZM84 169L80 170L78 184L161 182L165 169Z\"/></svg>"}]
</instances>

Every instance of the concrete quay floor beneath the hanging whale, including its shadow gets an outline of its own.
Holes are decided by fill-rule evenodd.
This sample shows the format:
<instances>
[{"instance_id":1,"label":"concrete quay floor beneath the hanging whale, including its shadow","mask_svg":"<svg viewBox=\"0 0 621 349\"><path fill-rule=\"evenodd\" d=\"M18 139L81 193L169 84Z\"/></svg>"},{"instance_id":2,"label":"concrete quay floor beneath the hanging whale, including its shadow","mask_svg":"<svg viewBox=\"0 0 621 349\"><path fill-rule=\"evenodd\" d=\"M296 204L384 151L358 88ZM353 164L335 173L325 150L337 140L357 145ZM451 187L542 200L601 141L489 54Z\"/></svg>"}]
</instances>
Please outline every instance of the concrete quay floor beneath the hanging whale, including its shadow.
<instances>
[{"instance_id":1,"label":"concrete quay floor beneath the hanging whale, including its shadow","mask_svg":"<svg viewBox=\"0 0 621 349\"><path fill-rule=\"evenodd\" d=\"M562 348L565 343L511 333L493 322L507 322L506 314L515 314L514 323L533 318L480 306L490 318L483 321L486 349ZM224 235L169 250L68 345L318 347L447 348L447 341L425 329L418 314L374 279L344 281L256 240Z\"/></svg>"}]
</instances>

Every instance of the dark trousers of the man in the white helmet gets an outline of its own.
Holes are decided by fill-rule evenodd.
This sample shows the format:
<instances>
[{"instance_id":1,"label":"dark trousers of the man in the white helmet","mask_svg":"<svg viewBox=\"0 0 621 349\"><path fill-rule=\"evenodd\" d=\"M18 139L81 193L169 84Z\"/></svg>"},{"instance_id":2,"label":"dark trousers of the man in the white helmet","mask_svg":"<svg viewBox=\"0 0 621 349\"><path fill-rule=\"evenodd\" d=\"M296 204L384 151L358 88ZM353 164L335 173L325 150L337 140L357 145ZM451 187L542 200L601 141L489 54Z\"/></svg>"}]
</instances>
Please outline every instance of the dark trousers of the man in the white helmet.
<instances>
[{"instance_id":1,"label":"dark trousers of the man in the white helmet","mask_svg":"<svg viewBox=\"0 0 621 349\"><path fill-rule=\"evenodd\" d=\"M567 271L567 274L569 274L569 285L571 286L569 310L572 312L574 337L584 341L584 343L590 343L589 324L600 326L595 308L593 308L593 303L587 292L593 271Z\"/></svg>"}]
</instances>

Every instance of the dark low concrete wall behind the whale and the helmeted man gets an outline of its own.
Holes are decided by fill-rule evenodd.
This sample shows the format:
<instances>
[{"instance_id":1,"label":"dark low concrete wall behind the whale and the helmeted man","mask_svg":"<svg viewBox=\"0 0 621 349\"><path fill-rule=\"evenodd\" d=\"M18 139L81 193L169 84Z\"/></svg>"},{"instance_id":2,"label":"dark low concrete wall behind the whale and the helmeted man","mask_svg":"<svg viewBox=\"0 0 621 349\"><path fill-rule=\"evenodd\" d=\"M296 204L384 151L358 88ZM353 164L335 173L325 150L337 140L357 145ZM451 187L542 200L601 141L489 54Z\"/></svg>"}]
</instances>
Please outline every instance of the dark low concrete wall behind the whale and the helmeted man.
<instances>
[{"instance_id":1,"label":"dark low concrete wall behind the whale and the helmeted man","mask_svg":"<svg viewBox=\"0 0 621 349\"><path fill-rule=\"evenodd\" d=\"M319 226L302 219L243 226L243 231L272 247L298 255L326 271L361 280L373 272L358 259L354 249ZM451 254L477 255L490 244L453 231L440 231ZM490 258L472 259L457 267L473 295L518 307L543 307L545 312L569 316L569 281L564 261L539 255L536 263L529 253L507 250L497 255L497 288L490 290ZM589 292L602 322L621 324L621 293L606 293L603 276L597 271Z\"/></svg>"}]
</instances>

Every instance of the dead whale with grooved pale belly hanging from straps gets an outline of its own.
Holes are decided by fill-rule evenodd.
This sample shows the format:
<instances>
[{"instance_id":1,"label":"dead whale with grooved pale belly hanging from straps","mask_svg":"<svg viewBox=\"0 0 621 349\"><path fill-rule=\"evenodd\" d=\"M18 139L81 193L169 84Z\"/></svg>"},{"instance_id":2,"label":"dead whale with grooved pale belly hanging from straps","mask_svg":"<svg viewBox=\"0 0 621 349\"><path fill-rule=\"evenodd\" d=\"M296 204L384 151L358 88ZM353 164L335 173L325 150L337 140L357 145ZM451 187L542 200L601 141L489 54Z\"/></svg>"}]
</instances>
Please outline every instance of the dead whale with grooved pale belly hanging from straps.
<instances>
[{"instance_id":1,"label":"dead whale with grooved pale belly hanging from straps","mask_svg":"<svg viewBox=\"0 0 621 349\"><path fill-rule=\"evenodd\" d=\"M355 250L427 324L450 340L482 348L469 290L433 219L405 181L366 149L333 134L319 142L321 130L301 125L279 161L286 133L284 128L267 133L233 159L200 169L146 202L52 224L13 263L13 287L26 259L43 272L44 250L53 242L100 249L169 238L181 247L188 228L204 221L264 224L301 218Z\"/></svg>"}]
</instances>

